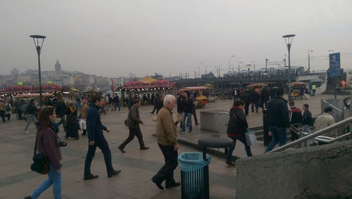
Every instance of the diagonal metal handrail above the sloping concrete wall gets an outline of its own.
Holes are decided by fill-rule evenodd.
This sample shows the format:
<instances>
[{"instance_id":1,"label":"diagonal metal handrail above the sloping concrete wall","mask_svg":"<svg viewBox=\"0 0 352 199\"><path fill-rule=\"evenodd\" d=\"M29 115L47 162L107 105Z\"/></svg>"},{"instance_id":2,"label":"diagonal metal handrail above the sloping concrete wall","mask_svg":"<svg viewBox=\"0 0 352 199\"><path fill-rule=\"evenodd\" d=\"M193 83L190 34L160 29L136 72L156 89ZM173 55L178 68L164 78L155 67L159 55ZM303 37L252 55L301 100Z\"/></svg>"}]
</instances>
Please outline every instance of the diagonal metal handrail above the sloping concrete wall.
<instances>
[{"instance_id":1,"label":"diagonal metal handrail above the sloping concrete wall","mask_svg":"<svg viewBox=\"0 0 352 199\"><path fill-rule=\"evenodd\" d=\"M327 133L329 131L332 131L334 129L337 129L339 127L343 127L346 124L350 124L351 122L352 122L352 117L348 117L345 120L342 120L340 122L332 124L331 126L325 127L324 129L320 129L319 131L315 131L313 134L309 134L307 136L304 136L301 139L298 139L298 140L292 141L290 143L287 143L284 146L280 146L279 148L275 148L274 150L271 150L271 151L269 151L267 153L278 152L278 151L285 150L287 148L291 148L292 146L296 146L296 145L301 144L301 143L303 143L305 141L308 141L309 139L313 139L316 136L320 136L322 134L325 134L325 133ZM348 136L350 134L351 134L351 132L348 132L347 134L344 134L342 136L339 136L339 137L335 138L334 141L337 141L337 139L343 139L343 138L345 138L346 136Z\"/></svg>"}]
</instances>

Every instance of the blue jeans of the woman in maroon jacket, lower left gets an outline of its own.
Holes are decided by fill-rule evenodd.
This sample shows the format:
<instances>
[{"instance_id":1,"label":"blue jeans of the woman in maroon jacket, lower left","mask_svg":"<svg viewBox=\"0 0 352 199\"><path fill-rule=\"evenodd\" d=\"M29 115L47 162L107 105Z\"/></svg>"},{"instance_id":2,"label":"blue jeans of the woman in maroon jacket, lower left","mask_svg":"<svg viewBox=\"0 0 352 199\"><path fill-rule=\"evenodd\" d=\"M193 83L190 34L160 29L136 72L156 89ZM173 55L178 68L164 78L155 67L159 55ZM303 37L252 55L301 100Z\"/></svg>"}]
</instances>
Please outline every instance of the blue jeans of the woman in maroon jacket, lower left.
<instances>
[{"instance_id":1,"label":"blue jeans of the woman in maroon jacket, lower left","mask_svg":"<svg viewBox=\"0 0 352 199\"><path fill-rule=\"evenodd\" d=\"M61 169L60 173L56 172L56 169L53 165L50 164L50 172L48 173L49 179L43 181L42 184L38 186L36 190L30 195L33 199L38 198L41 193L43 193L46 188L49 188L53 185L53 193L55 199L61 199Z\"/></svg>"}]
</instances>

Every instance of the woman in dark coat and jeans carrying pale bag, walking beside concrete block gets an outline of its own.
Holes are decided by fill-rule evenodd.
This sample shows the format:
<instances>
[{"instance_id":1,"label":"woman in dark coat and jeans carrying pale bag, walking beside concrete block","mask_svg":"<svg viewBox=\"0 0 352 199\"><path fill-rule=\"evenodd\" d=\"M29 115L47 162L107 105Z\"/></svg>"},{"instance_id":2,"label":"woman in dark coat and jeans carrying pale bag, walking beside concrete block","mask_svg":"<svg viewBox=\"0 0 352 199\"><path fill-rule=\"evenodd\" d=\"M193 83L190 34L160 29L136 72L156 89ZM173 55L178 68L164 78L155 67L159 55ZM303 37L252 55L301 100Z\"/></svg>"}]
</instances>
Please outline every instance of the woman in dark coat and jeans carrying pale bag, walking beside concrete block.
<instances>
[{"instance_id":1,"label":"woman in dark coat and jeans carrying pale bag, walking beside concrete block","mask_svg":"<svg viewBox=\"0 0 352 199\"><path fill-rule=\"evenodd\" d=\"M244 133L248 130L248 123L243 112L244 105L244 101L234 101L234 105L230 109L230 119L227 124L227 136L234 141L234 144L229 147L229 150L227 150L226 165L229 166L234 166L231 157L237 140L244 143L244 149L246 150L247 156L252 156L251 147L247 144L244 136Z\"/></svg>"}]
</instances>

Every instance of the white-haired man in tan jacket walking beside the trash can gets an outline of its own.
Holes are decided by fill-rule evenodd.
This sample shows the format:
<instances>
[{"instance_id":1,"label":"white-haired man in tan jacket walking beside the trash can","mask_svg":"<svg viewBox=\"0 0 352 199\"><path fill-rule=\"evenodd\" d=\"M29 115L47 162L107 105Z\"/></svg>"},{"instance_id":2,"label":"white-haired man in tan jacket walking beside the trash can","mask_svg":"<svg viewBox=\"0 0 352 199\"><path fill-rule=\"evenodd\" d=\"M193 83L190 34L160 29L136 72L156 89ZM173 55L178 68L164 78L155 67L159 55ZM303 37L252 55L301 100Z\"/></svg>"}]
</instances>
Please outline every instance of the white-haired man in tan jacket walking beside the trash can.
<instances>
[{"instance_id":1,"label":"white-haired man in tan jacket walking beside the trash can","mask_svg":"<svg viewBox=\"0 0 352 199\"><path fill-rule=\"evenodd\" d=\"M180 186L180 182L175 182L174 179L174 170L178 165L177 150L179 149L176 126L171 112L176 105L175 96L165 96L163 103L164 106L159 110L158 118L156 119L156 137L158 139L158 146L165 158L165 165L151 179L161 190L164 189L161 186L164 180L166 188Z\"/></svg>"}]
</instances>

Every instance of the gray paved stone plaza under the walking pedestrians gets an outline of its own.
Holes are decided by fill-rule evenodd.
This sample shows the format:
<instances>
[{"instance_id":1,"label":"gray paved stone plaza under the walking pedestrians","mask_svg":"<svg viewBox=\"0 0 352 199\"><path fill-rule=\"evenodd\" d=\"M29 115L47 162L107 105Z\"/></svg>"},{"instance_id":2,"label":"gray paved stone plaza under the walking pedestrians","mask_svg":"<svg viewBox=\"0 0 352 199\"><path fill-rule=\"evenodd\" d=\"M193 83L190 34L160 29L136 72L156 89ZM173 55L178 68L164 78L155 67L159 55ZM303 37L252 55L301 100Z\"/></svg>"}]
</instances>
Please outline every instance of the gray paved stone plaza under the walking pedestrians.
<instances>
[{"instance_id":1,"label":"gray paved stone plaza under the walking pedestrians","mask_svg":"<svg viewBox=\"0 0 352 199\"><path fill-rule=\"evenodd\" d=\"M340 98L341 96L339 96ZM333 98L333 96L314 96L308 100L297 100L296 106L301 108L303 103L310 105L313 116L320 114L320 99ZM208 103L202 110L229 110L232 101L217 101ZM106 127L111 129L110 134L105 134L111 148L113 166L121 169L118 176L108 178L106 167L101 151L96 150L96 156L92 162L92 173L99 174L98 179L83 181L84 158L87 153L87 136L80 136L80 140L68 140L68 146L61 148L63 155L63 198L180 198L181 187L166 188L161 191L151 181L163 165L163 155L156 143L155 123L151 120L153 107L145 106L139 108L141 119L146 124L141 124L142 133L146 146L149 150L139 150L139 143L134 139L125 150L127 153L120 153L118 146L127 138L128 128L124 120L127 117L127 108L121 111L108 112L102 115L101 120ZM175 115L174 115L175 116ZM249 127L256 127L262 124L262 114L249 113ZM200 118L199 118L200 121ZM28 131L30 134L23 134L25 120L15 120L12 115L11 122L0 123L0 198L23 198L30 195L39 184L47 178L30 170L34 149L35 128L31 124ZM62 126L61 126L62 127ZM177 129L180 129L177 127ZM80 131L80 134L82 131ZM206 134L208 135L208 134ZM59 136L64 140L64 132L61 129ZM180 139L197 140L204 136L199 126L194 127L192 134L179 134ZM224 132L225 136L225 132ZM239 143L239 142L238 142ZM265 148L263 143L256 143L253 146L253 155L263 154ZM189 151L199 151L190 146L180 145L179 154ZM234 154L245 157L243 145L238 144ZM211 155L210 171L210 198L234 198L235 178L237 170L235 167L227 167L225 159ZM180 181L180 167L175 170L175 179ZM165 186L165 184L163 184ZM52 189L49 188L39 198L53 198Z\"/></svg>"}]
</instances>

